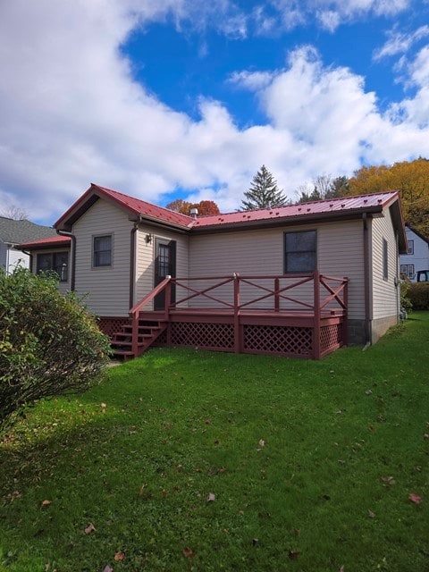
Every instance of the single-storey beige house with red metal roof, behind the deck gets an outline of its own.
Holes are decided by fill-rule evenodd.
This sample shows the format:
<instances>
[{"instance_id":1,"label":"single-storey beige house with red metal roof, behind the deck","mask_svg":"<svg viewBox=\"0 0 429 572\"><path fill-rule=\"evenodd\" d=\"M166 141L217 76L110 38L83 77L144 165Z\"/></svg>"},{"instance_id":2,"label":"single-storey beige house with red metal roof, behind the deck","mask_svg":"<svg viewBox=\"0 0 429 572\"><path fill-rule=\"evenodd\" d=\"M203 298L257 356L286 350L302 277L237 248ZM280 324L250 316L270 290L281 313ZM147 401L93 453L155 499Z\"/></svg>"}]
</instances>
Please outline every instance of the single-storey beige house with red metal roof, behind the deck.
<instances>
[{"instance_id":1,"label":"single-storey beige house with red metal roof, behind the deck","mask_svg":"<svg viewBox=\"0 0 429 572\"><path fill-rule=\"evenodd\" d=\"M407 239L398 192L193 218L92 184L55 228L63 236L21 245L33 271L69 252L61 287L118 324L166 275L314 271L348 278L349 341L377 341L399 320Z\"/></svg>"}]
</instances>

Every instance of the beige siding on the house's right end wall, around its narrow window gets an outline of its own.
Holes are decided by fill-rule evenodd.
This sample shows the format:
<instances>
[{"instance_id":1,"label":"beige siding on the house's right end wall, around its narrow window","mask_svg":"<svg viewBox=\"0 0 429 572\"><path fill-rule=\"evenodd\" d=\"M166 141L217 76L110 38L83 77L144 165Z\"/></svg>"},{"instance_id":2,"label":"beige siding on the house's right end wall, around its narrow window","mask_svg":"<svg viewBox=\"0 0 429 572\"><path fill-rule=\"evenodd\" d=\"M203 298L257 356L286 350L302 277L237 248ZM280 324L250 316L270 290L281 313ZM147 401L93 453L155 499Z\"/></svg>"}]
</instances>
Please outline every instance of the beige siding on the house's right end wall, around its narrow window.
<instances>
[{"instance_id":1,"label":"beige siding on the house's right end wall, around its narrow window","mask_svg":"<svg viewBox=\"0 0 429 572\"><path fill-rule=\"evenodd\" d=\"M374 320L398 315L398 249L391 223L389 209L384 209L383 218L372 221L372 283ZM383 279L383 239L387 240L388 277Z\"/></svg>"}]
</instances>

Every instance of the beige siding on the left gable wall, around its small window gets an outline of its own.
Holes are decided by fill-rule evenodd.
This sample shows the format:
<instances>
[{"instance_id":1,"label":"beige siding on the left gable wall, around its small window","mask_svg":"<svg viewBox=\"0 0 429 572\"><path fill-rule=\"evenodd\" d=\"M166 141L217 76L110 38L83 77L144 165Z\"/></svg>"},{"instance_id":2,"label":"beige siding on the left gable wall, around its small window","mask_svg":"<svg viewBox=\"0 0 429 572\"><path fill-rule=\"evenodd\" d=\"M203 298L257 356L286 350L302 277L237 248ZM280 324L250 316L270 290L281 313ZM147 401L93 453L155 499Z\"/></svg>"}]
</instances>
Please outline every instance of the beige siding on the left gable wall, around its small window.
<instances>
[{"instance_id":1,"label":"beige siding on the left gable wall, around its small window","mask_svg":"<svg viewBox=\"0 0 429 572\"><path fill-rule=\"evenodd\" d=\"M97 315L128 315L130 309L130 231L133 223L119 207L98 199L73 225L76 236L75 288ZM112 266L92 265L94 236L113 236Z\"/></svg>"}]
</instances>

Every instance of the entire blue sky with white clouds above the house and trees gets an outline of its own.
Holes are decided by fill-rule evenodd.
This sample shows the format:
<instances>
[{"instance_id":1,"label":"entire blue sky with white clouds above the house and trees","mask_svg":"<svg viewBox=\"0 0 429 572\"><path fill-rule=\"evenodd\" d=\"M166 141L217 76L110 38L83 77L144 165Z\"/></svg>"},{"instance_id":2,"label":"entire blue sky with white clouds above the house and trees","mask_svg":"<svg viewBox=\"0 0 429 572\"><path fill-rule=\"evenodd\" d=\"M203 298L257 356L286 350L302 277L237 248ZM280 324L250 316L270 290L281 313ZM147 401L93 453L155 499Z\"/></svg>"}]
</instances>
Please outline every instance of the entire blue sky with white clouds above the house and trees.
<instances>
[{"instance_id":1,"label":"entire blue sky with white clouds above the house and trees","mask_svg":"<svg viewBox=\"0 0 429 572\"><path fill-rule=\"evenodd\" d=\"M429 157L429 0L13 0L0 38L0 211L39 223Z\"/></svg>"}]
</instances>

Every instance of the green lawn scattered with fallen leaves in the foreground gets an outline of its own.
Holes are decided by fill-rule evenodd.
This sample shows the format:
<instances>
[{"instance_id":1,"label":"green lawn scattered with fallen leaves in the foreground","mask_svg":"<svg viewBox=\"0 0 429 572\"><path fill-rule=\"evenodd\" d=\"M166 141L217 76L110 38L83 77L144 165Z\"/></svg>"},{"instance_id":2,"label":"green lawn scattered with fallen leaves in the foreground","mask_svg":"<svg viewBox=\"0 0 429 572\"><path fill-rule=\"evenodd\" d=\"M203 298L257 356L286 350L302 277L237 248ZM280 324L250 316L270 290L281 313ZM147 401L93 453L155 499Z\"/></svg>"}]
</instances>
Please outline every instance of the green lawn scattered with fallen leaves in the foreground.
<instances>
[{"instance_id":1,"label":"green lawn scattered with fallen leaves in the foreground","mask_svg":"<svg viewBox=\"0 0 429 572\"><path fill-rule=\"evenodd\" d=\"M0 570L427 572L428 370L428 313L320 362L114 367L0 443Z\"/></svg>"}]
</instances>

